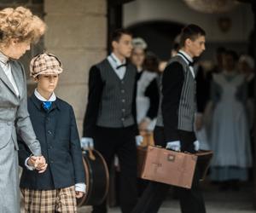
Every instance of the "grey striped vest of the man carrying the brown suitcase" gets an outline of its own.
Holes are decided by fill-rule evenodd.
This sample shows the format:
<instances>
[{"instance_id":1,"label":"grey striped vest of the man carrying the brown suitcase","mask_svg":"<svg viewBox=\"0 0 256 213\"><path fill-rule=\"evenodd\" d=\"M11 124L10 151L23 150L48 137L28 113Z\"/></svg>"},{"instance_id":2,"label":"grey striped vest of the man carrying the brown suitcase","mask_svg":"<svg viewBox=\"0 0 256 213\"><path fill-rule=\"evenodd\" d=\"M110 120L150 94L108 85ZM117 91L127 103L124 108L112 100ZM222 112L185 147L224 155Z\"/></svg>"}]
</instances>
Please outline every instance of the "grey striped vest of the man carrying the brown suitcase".
<instances>
[{"instance_id":1,"label":"grey striped vest of the man carrying the brown suitcase","mask_svg":"<svg viewBox=\"0 0 256 213\"><path fill-rule=\"evenodd\" d=\"M196 112L196 82L189 65L179 55L172 58L169 63L177 61L183 66L184 82L177 109L177 130L194 131L195 112ZM160 86L161 89L161 86ZM162 95L160 95L160 104ZM158 112L157 126L163 126L161 107Z\"/></svg>"}]
</instances>

